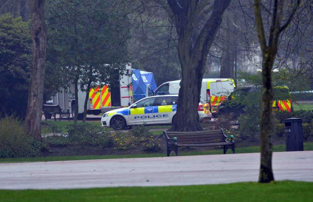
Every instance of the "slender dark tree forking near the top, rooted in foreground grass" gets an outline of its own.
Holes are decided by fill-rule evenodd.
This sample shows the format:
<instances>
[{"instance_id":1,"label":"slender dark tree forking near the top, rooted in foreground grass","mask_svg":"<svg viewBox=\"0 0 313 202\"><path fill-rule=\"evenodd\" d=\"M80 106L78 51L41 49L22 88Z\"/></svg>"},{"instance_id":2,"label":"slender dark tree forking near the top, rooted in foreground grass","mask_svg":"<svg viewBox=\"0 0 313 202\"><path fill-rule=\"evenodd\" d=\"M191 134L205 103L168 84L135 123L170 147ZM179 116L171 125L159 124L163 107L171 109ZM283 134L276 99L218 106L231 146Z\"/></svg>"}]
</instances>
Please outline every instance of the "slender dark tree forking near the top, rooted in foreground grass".
<instances>
[{"instance_id":1,"label":"slender dark tree forking near the top, rooted in foreground grass","mask_svg":"<svg viewBox=\"0 0 313 202\"><path fill-rule=\"evenodd\" d=\"M272 69L278 51L279 35L291 22L300 0L284 2L274 0L273 4L264 5L260 0L255 0L254 11L257 25L258 38L262 51L262 110L261 110L261 165L259 182L270 182L274 180L272 171ZM284 7L290 6L290 15L284 16ZM288 10L288 9L287 9ZM264 14L264 12L266 14ZM264 16L269 19L269 29L264 26ZM267 34L266 34L267 31ZM267 39L268 36L268 39Z\"/></svg>"}]
</instances>

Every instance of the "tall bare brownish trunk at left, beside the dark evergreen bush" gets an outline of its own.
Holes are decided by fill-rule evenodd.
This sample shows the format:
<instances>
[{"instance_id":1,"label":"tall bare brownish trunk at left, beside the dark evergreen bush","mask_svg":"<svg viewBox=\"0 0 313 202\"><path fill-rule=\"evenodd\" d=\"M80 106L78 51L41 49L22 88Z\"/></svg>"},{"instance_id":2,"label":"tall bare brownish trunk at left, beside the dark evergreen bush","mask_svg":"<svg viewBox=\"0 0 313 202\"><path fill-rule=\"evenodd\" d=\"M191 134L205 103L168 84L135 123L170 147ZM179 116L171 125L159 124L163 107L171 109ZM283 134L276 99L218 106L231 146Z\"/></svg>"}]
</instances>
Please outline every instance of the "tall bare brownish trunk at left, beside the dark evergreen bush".
<instances>
[{"instance_id":1,"label":"tall bare brownish trunk at left, beside the dark evergreen bush","mask_svg":"<svg viewBox=\"0 0 313 202\"><path fill-rule=\"evenodd\" d=\"M29 82L25 127L36 140L41 140L41 120L45 79L46 25L44 17L45 0L31 0L31 37L33 55Z\"/></svg>"}]
</instances>

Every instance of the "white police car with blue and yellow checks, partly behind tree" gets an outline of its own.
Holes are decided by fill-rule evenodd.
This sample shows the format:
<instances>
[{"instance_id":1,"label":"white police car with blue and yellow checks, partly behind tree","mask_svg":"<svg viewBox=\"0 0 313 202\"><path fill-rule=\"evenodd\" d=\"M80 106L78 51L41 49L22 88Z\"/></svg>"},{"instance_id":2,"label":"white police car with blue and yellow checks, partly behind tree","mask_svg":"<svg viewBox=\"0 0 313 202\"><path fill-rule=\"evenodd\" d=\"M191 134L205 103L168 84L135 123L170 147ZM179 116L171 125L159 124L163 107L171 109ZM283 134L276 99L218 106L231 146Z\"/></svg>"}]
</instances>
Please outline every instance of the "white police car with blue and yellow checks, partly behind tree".
<instances>
[{"instance_id":1,"label":"white police car with blue and yellow checks, partly behind tree","mask_svg":"<svg viewBox=\"0 0 313 202\"><path fill-rule=\"evenodd\" d=\"M177 110L178 95L162 95L143 98L129 107L106 112L101 118L102 126L115 130L138 124L172 124ZM200 120L211 117L206 105L199 104Z\"/></svg>"}]
</instances>

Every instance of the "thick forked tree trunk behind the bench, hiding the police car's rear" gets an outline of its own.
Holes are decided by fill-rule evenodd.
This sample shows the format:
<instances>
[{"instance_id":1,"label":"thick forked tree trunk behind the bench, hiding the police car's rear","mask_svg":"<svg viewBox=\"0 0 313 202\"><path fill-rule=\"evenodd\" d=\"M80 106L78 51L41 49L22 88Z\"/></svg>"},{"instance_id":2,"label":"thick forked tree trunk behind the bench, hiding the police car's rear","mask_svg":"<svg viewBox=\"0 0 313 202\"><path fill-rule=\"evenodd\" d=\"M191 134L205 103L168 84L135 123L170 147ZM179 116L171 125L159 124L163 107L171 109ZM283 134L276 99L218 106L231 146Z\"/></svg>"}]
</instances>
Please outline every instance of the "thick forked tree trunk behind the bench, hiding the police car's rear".
<instances>
[{"instance_id":1,"label":"thick forked tree trunk behind the bench, hiding the police car's rear","mask_svg":"<svg viewBox=\"0 0 313 202\"><path fill-rule=\"evenodd\" d=\"M206 58L231 0L167 0L178 36L181 82L174 131L201 130L197 107ZM208 16L208 18L205 18ZM204 17L204 19L202 18ZM202 25L201 25L202 24Z\"/></svg>"}]
</instances>

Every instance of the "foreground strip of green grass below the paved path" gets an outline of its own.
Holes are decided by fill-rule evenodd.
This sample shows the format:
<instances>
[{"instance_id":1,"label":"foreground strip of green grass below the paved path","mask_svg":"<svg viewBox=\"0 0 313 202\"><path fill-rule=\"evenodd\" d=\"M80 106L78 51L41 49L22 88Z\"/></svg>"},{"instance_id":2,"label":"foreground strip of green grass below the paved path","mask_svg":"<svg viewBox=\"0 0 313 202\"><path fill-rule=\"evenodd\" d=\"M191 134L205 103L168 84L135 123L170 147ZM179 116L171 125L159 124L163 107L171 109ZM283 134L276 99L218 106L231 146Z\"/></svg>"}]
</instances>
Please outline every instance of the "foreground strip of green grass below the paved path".
<instances>
[{"instance_id":1,"label":"foreground strip of green grass below the paved path","mask_svg":"<svg viewBox=\"0 0 313 202\"><path fill-rule=\"evenodd\" d=\"M0 190L1 202L312 202L313 182Z\"/></svg>"}]
</instances>

